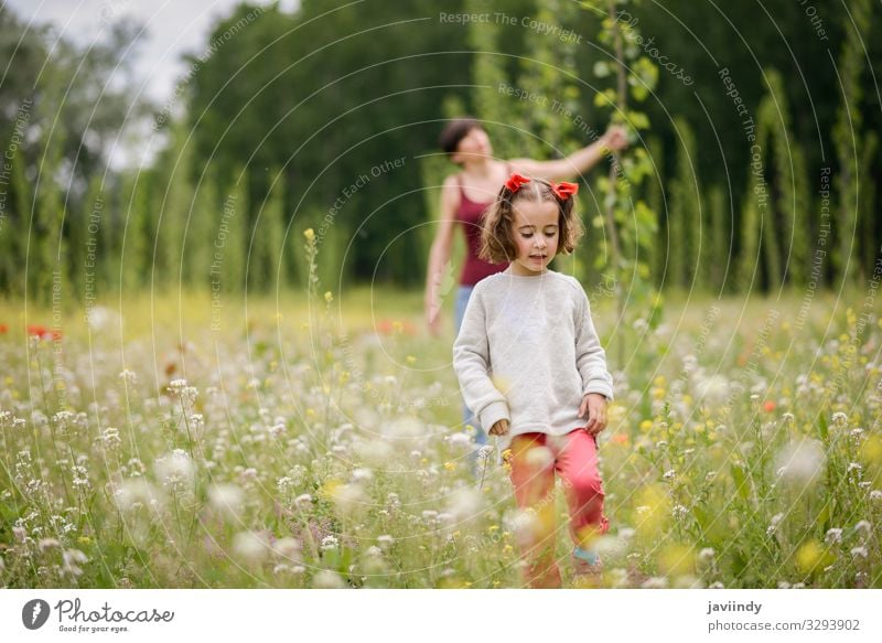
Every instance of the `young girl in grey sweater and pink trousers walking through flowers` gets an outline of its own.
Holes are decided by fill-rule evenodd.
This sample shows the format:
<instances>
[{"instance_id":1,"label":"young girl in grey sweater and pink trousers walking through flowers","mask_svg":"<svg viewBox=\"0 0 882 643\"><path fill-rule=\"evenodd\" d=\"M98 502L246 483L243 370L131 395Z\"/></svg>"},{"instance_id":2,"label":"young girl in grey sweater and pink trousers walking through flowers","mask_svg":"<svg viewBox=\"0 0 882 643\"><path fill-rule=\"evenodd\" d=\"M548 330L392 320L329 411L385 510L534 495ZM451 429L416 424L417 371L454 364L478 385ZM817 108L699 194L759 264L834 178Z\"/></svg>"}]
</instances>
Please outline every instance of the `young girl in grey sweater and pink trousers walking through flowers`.
<instances>
[{"instance_id":1,"label":"young girl in grey sweater and pink trousers walking through flowers","mask_svg":"<svg viewBox=\"0 0 882 643\"><path fill-rule=\"evenodd\" d=\"M596 435L613 397L605 352L579 281L548 269L584 229L573 183L512 174L484 216L481 256L510 261L469 300L453 367L465 401L508 447L510 478L533 526L521 543L526 582L560 587L555 557L555 472L561 476L576 545L576 585L596 585L592 542L604 534Z\"/></svg>"}]
</instances>

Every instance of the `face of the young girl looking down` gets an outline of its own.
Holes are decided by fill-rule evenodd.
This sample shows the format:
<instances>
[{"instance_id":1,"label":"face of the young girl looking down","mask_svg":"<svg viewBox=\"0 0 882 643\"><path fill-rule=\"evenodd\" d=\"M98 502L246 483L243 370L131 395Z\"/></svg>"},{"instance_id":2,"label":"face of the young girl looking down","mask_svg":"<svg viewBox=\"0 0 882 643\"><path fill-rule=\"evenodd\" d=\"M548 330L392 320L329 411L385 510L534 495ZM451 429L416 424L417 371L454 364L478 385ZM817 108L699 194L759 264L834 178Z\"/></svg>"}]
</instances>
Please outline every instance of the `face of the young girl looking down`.
<instances>
[{"instance_id":1,"label":"face of the young girl looking down","mask_svg":"<svg viewBox=\"0 0 882 643\"><path fill-rule=\"evenodd\" d=\"M516 201L512 235L517 246L517 257L512 261L512 272L525 277L541 275L558 253L560 211L551 201Z\"/></svg>"}]
</instances>

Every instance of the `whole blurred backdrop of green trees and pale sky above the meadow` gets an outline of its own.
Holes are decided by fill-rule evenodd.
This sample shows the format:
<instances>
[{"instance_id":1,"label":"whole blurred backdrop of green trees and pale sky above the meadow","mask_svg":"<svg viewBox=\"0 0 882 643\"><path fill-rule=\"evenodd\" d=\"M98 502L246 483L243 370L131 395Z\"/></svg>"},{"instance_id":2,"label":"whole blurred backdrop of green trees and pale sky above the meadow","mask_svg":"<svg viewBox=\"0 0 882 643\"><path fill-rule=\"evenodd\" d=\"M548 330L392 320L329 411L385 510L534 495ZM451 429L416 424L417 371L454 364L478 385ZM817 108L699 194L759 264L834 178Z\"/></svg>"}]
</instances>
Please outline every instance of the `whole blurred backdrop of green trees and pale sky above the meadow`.
<instances>
[{"instance_id":1,"label":"whole blurred backdrop of green trees and pale sky above the meadow","mask_svg":"<svg viewBox=\"0 0 882 643\"><path fill-rule=\"evenodd\" d=\"M463 114L503 158L628 128L582 181L566 269L587 283L860 285L882 242L879 26L869 0L7 1L0 293L208 289L218 242L225 293L288 291L308 228L325 282L418 288L455 171L435 140Z\"/></svg>"}]
</instances>

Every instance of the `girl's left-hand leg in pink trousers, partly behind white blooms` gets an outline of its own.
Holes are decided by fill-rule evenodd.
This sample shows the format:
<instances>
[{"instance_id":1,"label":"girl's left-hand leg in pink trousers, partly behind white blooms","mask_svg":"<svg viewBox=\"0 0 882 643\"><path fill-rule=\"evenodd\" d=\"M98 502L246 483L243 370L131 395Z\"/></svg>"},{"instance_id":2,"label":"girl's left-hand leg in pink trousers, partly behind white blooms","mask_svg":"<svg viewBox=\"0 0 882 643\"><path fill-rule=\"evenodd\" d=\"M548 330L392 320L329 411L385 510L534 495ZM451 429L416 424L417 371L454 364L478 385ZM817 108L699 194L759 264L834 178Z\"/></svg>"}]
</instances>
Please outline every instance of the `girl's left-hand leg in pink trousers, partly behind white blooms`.
<instances>
[{"instance_id":1,"label":"girl's left-hand leg in pink trousers, partly behind white blooms","mask_svg":"<svg viewBox=\"0 0 882 643\"><path fill-rule=\"evenodd\" d=\"M510 444L510 478L525 519L518 544L527 562L525 582L533 588L561 585L555 561L555 454L545 443L545 433L524 433Z\"/></svg>"}]
</instances>

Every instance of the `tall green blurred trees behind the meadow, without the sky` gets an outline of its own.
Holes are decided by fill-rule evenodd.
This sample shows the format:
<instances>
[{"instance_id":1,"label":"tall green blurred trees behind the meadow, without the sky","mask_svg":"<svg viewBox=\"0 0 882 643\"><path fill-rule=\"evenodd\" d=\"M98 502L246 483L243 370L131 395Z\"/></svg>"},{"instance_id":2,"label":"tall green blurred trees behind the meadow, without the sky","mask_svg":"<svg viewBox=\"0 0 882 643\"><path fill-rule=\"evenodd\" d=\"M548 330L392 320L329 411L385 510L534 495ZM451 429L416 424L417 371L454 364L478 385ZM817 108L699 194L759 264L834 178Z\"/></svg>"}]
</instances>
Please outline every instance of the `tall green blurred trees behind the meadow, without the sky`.
<instances>
[{"instance_id":1,"label":"tall green blurred trees behind the meadow, without the sky","mask_svg":"<svg viewBox=\"0 0 882 643\"><path fill-rule=\"evenodd\" d=\"M641 29L660 32L659 11L648 4ZM684 17L698 11L681 4ZM6 79L0 107L11 135L0 169L0 291L49 302L58 285L79 300L218 281L227 291L302 287L309 227L322 232L325 281L342 275L419 285L433 232L427 223L454 170L433 141L444 119L466 112L487 124L505 158L560 157L590 139L583 124L600 132L619 120L635 132L619 159L630 180L624 192L613 193L615 172L585 179L580 206L590 234L576 269L587 280L611 262L616 279L636 275L656 289L774 291L865 279L882 238L872 170L878 138L874 121L863 118L873 105L863 89L872 72L864 42L878 19L870 1L856 0L837 17L841 90L816 94L827 104L818 106L820 119L831 126L820 137L822 159L818 142L799 135L810 128L804 106L789 99L793 79L773 67L740 76L745 96L744 78L762 78L751 104L755 153L742 131L727 131L739 128L720 116L733 110L716 66L704 71L702 92L712 120L723 125L709 130L695 117L691 89L636 45L638 30L615 20L641 6L517 0L506 8L509 18L530 17L528 25L594 34L589 47L584 39L512 29L510 20L438 18L493 15L498 8L485 0L420 0L407 9L366 2L334 12L304 1L297 13L271 6L248 21L255 8L244 4L217 24L212 55L192 60L183 110L161 130L165 149L149 167L125 172L98 162L97 152L84 157L90 138L82 119L53 118L56 105L76 108L64 103L64 73L41 76L30 94L26 83L17 88ZM408 23L411 13L434 20ZM0 19L3 33L21 26L8 8ZM313 31L303 31L308 24ZM398 26L384 31L389 24ZM347 34L364 46L335 50ZM664 42L670 57L688 62L689 43ZM261 52L269 52L265 61L248 63ZM557 105L506 98L503 87ZM400 170L372 173L392 158L406 159ZM359 176L367 176L364 186L348 191ZM829 194L821 194L827 179Z\"/></svg>"}]
</instances>

